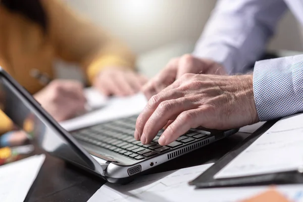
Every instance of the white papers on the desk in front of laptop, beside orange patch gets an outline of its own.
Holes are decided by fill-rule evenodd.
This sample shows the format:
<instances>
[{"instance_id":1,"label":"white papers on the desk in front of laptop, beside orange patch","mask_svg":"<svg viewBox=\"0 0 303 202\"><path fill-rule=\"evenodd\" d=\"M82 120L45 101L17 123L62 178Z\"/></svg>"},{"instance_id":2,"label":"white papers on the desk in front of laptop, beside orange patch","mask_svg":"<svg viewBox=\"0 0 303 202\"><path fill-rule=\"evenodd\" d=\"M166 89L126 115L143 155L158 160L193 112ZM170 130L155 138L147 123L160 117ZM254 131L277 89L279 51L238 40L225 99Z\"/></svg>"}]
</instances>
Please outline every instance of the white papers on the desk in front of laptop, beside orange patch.
<instances>
[{"instance_id":1,"label":"white papers on the desk in front of laptop, beside orange patch","mask_svg":"<svg viewBox=\"0 0 303 202\"><path fill-rule=\"evenodd\" d=\"M106 183L100 187L88 202L120 201L203 201L231 202L247 199L268 189L266 186L194 189L187 184L212 164L184 168L178 171L146 175L127 185ZM276 187L289 200L303 201L303 185Z\"/></svg>"}]
</instances>

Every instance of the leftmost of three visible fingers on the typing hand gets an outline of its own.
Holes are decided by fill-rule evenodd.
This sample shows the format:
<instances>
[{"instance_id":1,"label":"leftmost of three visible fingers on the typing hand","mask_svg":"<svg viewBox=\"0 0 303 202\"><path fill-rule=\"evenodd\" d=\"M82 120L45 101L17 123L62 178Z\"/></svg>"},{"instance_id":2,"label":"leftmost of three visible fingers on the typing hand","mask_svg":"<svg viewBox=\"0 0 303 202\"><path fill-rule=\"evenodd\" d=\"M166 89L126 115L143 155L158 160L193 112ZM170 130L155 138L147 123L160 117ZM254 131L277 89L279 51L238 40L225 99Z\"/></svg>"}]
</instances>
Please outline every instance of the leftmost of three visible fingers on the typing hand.
<instances>
[{"instance_id":1,"label":"leftmost of three visible fingers on the typing hand","mask_svg":"<svg viewBox=\"0 0 303 202\"><path fill-rule=\"evenodd\" d=\"M138 116L136 122L135 139L139 140L141 138L147 120L158 108L160 103L162 103L164 100L176 99L179 97L183 97L183 93L176 90L166 91L165 93L159 93L151 97L141 114Z\"/></svg>"}]
</instances>

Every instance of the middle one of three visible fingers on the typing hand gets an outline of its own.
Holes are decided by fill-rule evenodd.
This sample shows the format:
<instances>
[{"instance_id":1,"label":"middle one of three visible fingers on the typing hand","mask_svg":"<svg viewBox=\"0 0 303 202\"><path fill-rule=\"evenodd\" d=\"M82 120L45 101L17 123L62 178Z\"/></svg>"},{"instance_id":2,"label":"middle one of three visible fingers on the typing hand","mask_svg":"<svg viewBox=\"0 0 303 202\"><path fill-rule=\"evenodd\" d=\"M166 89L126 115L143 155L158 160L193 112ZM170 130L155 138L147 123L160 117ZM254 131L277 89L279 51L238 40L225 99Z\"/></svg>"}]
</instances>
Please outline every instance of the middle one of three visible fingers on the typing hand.
<instances>
[{"instance_id":1,"label":"middle one of three visible fingers on the typing hand","mask_svg":"<svg viewBox=\"0 0 303 202\"><path fill-rule=\"evenodd\" d=\"M188 97L165 100L160 103L144 125L141 142L145 144L149 143L169 120L175 119L181 112L191 110L195 107L196 103L194 100Z\"/></svg>"}]
</instances>

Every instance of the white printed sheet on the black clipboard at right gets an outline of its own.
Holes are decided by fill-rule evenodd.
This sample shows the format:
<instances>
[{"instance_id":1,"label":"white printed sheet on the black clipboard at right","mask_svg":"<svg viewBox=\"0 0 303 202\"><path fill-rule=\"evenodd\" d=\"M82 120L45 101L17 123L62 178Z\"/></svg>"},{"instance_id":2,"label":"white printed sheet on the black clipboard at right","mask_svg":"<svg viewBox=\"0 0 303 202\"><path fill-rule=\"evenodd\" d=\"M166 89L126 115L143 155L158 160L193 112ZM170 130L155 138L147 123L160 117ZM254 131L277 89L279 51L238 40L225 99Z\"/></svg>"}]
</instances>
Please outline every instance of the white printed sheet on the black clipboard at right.
<instances>
[{"instance_id":1,"label":"white printed sheet on the black clipboard at right","mask_svg":"<svg viewBox=\"0 0 303 202\"><path fill-rule=\"evenodd\" d=\"M214 177L297 170L303 165L303 114L281 119Z\"/></svg>"}]
</instances>

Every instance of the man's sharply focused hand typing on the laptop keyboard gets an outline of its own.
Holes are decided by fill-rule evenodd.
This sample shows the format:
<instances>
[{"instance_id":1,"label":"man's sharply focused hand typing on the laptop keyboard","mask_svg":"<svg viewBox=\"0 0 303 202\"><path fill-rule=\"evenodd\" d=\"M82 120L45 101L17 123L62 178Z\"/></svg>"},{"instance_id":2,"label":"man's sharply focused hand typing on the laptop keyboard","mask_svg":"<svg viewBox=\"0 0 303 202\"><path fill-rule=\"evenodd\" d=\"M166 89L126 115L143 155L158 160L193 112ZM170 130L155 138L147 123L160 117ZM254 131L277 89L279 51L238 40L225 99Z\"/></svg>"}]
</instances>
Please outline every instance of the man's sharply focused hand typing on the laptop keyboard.
<instances>
[{"instance_id":1,"label":"man's sharply focused hand typing on the laptop keyboard","mask_svg":"<svg viewBox=\"0 0 303 202\"><path fill-rule=\"evenodd\" d=\"M252 75L185 74L149 99L134 136L147 144L166 127L159 139L166 145L190 128L224 130L258 121Z\"/></svg>"}]
</instances>

